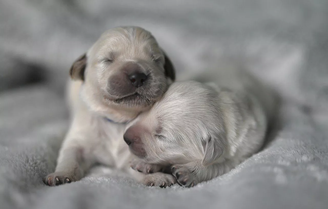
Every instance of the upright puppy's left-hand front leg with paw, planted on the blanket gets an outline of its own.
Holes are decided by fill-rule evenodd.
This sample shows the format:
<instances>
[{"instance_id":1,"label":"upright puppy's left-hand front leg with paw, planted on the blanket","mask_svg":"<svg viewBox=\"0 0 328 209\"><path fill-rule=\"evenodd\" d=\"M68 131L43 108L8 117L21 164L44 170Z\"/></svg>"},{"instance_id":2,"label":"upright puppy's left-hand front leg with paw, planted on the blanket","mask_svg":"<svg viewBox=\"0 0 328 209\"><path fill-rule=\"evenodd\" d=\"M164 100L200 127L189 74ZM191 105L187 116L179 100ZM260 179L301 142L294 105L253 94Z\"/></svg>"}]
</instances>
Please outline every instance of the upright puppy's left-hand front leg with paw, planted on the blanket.
<instances>
[{"instance_id":1,"label":"upright puppy's left-hand front leg with paw, planted on the blanket","mask_svg":"<svg viewBox=\"0 0 328 209\"><path fill-rule=\"evenodd\" d=\"M45 184L55 186L78 181L95 162L93 150L100 139L87 119L74 118L60 149L55 172L43 178Z\"/></svg>"}]
</instances>

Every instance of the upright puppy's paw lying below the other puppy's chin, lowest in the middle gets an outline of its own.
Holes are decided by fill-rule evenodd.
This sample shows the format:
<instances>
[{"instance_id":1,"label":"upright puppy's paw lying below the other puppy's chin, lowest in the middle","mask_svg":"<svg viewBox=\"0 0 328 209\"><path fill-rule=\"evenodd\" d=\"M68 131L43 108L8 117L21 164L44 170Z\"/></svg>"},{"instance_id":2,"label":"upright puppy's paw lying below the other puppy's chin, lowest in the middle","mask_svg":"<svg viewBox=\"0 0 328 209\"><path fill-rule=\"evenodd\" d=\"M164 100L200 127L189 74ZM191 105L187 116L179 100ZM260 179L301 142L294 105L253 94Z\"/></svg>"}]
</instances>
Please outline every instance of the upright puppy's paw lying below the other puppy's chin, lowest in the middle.
<instances>
[{"instance_id":1,"label":"upright puppy's paw lying below the other puppy's chin, lowest in the middle","mask_svg":"<svg viewBox=\"0 0 328 209\"><path fill-rule=\"evenodd\" d=\"M175 178L171 174L154 173L147 174L142 183L147 186L156 186L161 188L170 187L175 183Z\"/></svg>"}]
</instances>

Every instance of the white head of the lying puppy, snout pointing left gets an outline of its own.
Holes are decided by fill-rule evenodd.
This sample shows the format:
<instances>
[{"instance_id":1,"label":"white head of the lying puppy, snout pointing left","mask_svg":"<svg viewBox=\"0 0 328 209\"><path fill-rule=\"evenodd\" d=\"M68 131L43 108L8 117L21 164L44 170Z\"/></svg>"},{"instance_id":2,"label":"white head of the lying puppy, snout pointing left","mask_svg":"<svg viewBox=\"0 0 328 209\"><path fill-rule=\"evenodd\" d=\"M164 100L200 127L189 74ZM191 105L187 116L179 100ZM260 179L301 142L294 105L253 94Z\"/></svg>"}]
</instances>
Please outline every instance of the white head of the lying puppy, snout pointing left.
<instances>
[{"instance_id":1,"label":"white head of the lying puppy, snout pointing left","mask_svg":"<svg viewBox=\"0 0 328 209\"><path fill-rule=\"evenodd\" d=\"M131 152L150 163L211 164L223 154L225 131L217 93L195 81L173 83L150 111L127 128Z\"/></svg>"}]
</instances>

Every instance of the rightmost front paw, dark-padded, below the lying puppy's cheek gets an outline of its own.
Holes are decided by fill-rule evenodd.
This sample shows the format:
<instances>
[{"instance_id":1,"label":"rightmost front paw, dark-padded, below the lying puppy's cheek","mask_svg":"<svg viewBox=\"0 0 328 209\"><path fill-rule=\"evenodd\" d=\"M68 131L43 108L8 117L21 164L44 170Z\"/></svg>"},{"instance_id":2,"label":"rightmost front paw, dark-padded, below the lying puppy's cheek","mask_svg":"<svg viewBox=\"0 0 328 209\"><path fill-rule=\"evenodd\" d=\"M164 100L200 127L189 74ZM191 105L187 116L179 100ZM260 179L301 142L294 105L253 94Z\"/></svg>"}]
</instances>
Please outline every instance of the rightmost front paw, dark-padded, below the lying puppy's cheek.
<instances>
[{"instance_id":1,"label":"rightmost front paw, dark-padded, below the lying puppy's cheek","mask_svg":"<svg viewBox=\"0 0 328 209\"><path fill-rule=\"evenodd\" d=\"M193 172L184 165L172 166L172 174L177 183L183 187L193 187L199 183Z\"/></svg>"}]
</instances>

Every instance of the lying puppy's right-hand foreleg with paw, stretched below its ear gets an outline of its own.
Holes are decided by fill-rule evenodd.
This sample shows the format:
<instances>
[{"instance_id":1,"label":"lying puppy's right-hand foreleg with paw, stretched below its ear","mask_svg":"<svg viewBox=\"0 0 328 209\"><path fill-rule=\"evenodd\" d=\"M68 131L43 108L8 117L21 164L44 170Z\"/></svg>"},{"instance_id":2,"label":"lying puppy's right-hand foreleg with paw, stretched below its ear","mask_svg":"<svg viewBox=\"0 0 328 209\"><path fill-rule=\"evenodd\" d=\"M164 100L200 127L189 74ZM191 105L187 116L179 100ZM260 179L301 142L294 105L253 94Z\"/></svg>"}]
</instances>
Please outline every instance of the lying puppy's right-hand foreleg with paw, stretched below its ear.
<instances>
[{"instance_id":1,"label":"lying puppy's right-hand foreleg with paw, stretched below its ear","mask_svg":"<svg viewBox=\"0 0 328 209\"><path fill-rule=\"evenodd\" d=\"M232 168L234 166L230 161L209 166L203 166L202 161L195 161L184 165L172 166L172 173L178 184L184 187L193 187L200 182L223 175Z\"/></svg>"}]
</instances>

